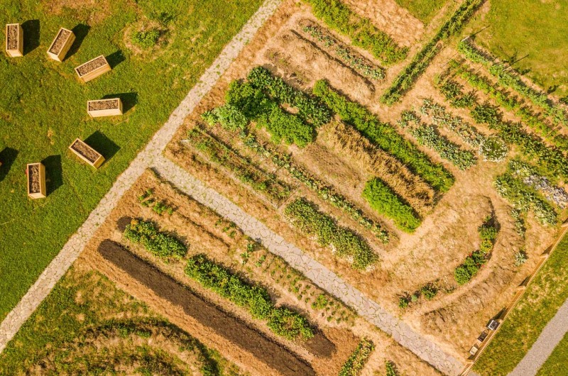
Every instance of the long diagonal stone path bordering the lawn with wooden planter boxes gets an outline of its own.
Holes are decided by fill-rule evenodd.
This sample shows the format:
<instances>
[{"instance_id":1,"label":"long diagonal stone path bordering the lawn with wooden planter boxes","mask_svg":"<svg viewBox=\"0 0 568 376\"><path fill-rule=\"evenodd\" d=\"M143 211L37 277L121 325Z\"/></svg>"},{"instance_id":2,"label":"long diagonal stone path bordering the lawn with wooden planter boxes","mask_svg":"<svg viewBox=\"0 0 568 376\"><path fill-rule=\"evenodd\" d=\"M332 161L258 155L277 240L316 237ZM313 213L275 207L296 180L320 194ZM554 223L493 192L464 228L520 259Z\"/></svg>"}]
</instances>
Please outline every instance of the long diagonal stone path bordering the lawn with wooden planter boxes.
<instances>
[{"instance_id":1,"label":"long diagonal stone path bordering the lawn with wooden planter boxes","mask_svg":"<svg viewBox=\"0 0 568 376\"><path fill-rule=\"evenodd\" d=\"M239 52L241 52L249 40L253 38L253 35L264 21L274 13L279 4L280 0L266 0L247 21L241 31L225 46L213 64L200 77L195 87L185 96L180 106L173 111L168 122L155 133L151 141L146 145L146 148L138 153L129 167L116 179L109 192L99 202L97 208L91 212L89 218L84 221L77 233L70 237L60 250L60 253L55 256L38 277L38 280L26 292L26 295L6 316L0 324L0 352L6 348L6 345L16 335L23 323L38 308L55 284L67 272L82 252L84 246L87 245L90 238L94 235L94 232L97 231L97 228L107 219L116 202L130 189L146 168L152 164L155 157L162 153L165 145L168 145L175 131L183 123L183 120L193 111L203 96L212 89L219 77L239 55Z\"/></svg>"}]
</instances>

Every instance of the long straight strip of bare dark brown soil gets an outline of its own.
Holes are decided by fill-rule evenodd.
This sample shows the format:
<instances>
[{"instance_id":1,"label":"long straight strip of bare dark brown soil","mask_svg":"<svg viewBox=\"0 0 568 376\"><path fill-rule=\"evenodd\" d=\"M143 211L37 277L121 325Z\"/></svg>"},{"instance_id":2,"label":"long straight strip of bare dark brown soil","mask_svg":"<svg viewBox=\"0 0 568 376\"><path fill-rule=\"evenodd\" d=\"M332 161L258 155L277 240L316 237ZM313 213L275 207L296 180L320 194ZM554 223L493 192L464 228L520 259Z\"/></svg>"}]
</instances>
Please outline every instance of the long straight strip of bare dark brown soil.
<instances>
[{"instance_id":1,"label":"long straight strip of bare dark brown soil","mask_svg":"<svg viewBox=\"0 0 568 376\"><path fill-rule=\"evenodd\" d=\"M273 367L283 375L315 376L315 371L304 360L297 358L280 345L269 341L260 333L235 319L191 292L169 275L160 272L153 265L137 258L121 245L104 240L98 248L103 258L120 267L131 277L151 289L168 302L181 306L185 314L209 326L219 335L252 353L256 358Z\"/></svg>"}]
</instances>

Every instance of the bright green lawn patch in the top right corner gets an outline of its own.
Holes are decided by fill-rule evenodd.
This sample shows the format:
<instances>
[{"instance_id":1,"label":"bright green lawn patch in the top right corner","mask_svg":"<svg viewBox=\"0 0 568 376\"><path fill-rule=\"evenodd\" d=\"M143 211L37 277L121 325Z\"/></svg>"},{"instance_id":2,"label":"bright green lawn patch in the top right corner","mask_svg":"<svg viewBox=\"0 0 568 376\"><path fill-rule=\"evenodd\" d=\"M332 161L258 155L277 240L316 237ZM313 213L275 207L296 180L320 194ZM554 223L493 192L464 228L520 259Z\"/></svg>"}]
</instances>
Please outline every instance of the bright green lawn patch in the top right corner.
<instances>
[{"instance_id":1,"label":"bright green lawn patch in the top right corner","mask_svg":"<svg viewBox=\"0 0 568 376\"><path fill-rule=\"evenodd\" d=\"M568 2L534 0L491 1L477 40L544 89L557 86L568 95Z\"/></svg>"}]
</instances>

